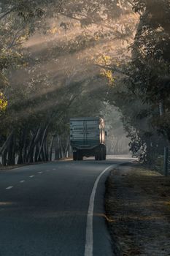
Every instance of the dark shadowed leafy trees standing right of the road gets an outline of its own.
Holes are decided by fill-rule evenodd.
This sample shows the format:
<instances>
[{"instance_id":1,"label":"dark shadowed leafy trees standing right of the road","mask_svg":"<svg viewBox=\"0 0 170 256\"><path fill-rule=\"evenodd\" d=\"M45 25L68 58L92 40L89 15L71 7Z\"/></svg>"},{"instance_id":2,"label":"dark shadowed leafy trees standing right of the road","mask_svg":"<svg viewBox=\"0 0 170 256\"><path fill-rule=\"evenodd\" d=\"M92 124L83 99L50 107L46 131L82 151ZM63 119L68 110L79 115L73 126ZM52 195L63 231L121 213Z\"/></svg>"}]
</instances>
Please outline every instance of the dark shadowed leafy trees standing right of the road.
<instances>
[{"instance_id":1,"label":"dark shadowed leafy trees standing right of the road","mask_svg":"<svg viewBox=\"0 0 170 256\"><path fill-rule=\"evenodd\" d=\"M170 141L170 2L134 1L134 11L140 20L129 46L131 58L119 70L107 67L122 74L110 102L122 113L131 151L153 165Z\"/></svg>"}]
</instances>

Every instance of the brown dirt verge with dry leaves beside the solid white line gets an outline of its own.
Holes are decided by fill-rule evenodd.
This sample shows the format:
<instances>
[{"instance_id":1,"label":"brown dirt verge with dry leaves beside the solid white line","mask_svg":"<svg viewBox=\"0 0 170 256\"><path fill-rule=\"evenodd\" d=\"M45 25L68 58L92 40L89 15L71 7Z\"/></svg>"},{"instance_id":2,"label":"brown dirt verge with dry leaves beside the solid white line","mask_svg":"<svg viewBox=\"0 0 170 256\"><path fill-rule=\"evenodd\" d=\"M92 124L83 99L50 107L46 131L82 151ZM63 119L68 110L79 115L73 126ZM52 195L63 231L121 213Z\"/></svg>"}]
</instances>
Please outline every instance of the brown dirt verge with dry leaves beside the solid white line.
<instances>
[{"instance_id":1,"label":"brown dirt verge with dry leaves beside the solid white line","mask_svg":"<svg viewBox=\"0 0 170 256\"><path fill-rule=\"evenodd\" d=\"M106 185L115 255L170 255L170 177L132 164L112 170Z\"/></svg>"}]
</instances>

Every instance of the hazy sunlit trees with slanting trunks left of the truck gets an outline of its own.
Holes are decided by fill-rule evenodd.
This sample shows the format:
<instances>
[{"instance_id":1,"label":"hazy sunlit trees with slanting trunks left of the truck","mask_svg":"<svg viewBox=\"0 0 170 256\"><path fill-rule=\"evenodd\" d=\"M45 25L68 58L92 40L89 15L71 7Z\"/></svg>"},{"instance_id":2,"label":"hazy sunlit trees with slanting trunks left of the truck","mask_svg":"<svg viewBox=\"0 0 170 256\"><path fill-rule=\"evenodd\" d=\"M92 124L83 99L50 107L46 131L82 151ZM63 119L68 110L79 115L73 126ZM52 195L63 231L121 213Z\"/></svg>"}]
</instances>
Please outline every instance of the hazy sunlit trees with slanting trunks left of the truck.
<instances>
[{"instance_id":1,"label":"hazy sunlit trees with slanting trunks left of the truck","mask_svg":"<svg viewBox=\"0 0 170 256\"><path fill-rule=\"evenodd\" d=\"M101 113L108 86L92 65L106 39L125 34L131 4L120 2L1 1L2 165L47 161L54 148L55 159L68 156L69 117Z\"/></svg>"}]
</instances>

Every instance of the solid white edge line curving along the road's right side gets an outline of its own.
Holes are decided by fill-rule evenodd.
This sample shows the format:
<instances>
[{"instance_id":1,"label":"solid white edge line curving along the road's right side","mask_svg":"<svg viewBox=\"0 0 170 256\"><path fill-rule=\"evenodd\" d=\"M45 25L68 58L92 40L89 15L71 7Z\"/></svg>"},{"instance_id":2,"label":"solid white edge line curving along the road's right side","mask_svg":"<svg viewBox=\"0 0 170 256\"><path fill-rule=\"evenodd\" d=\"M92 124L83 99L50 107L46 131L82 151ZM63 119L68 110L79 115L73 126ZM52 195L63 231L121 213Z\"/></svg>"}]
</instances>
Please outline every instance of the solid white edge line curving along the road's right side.
<instances>
[{"instance_id":1,"label":"solid white edge line curving along the road's right side","mask_svg":"<svg viewBox=\"0 0 170 256\"><path fill-rule=\"evenodd\" d=\"M84 256L93 256L93 209L94 209L94 199L96 195L96 189L98 186L98 181L101 176L107 172L113 165L110 165L102 171L102 173L96 178L93 190L90 195L90 202L88 206L88 217L86 224L86 237L85 237L85 255Z\"/></svg>"}]
</instances>

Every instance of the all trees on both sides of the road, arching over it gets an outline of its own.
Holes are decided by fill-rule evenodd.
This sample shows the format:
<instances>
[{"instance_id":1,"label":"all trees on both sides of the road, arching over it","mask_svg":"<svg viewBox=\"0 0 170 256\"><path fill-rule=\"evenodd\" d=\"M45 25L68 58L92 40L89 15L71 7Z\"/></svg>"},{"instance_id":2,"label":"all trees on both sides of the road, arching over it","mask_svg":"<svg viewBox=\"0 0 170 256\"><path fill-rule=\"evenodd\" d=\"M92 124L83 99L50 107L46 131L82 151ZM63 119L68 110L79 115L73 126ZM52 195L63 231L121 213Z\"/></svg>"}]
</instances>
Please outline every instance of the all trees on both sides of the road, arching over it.
<instances>
[{"instance_id":1,"label":"all trees on both sides of the road, arching over it","mask_svg":"<svg viewBox=\"0 0 170 256\"><path fill-rule=\"evenodd\" d=\"M170 140L169 14L169 0L1 1L2 164L68 156L69 117L106 102L151 164Z\"/></svg>"}]
</instances>

